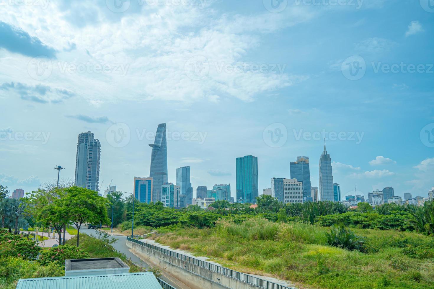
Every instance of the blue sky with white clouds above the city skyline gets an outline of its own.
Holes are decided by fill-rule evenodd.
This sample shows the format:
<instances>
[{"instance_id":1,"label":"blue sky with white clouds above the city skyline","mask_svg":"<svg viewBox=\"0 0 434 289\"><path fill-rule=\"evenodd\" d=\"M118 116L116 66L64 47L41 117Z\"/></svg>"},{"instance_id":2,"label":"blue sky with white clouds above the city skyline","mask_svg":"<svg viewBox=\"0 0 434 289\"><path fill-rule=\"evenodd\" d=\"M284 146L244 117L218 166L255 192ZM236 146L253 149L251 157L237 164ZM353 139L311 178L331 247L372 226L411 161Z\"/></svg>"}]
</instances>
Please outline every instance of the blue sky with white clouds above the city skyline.
<instances>
[{"instance_id":1,"label":"blue sky with white clouds above the city skyline","mask_svg":"<svg viewBox=\"0 0 434 289\"><path fill-rule=\"evenodd\" d=\"M297 156L310 157L317 186L326 136L342 196L354 184L427 196L428 1L3 1L0 184L29 192L58 165L72 179L77 136L91 130L102 189L113 179L131 192L165 122L170 182L191 166L194 188L230 183L234 195L235 158L251 154L260 192L289 178Z\"/></svg>"}]
</instances>

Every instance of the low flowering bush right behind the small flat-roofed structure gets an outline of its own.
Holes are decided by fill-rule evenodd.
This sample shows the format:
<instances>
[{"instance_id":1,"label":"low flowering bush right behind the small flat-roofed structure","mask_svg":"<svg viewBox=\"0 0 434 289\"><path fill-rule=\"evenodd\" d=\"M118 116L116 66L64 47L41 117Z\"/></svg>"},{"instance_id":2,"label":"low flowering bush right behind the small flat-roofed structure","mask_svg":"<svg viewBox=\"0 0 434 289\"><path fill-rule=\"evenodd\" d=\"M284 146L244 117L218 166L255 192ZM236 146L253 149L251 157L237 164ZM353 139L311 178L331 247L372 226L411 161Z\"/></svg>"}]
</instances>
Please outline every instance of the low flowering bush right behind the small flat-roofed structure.
<instances>
[{"instance_id":1,"label":"low flowering bush right behind the small flat-roofed structure","mask_svg":"<svg viewBox=\"0 0 434 289\"><path fill-rule=\"evenodd\" d=\"M71 246L61 245L58 247L50 248L42 253L39 257L39 262L42 265L48 265L51 262L59 261L60 264L64 264L66 259L85 259L90 258L89 253L84 250Z\"/></svg>"}]
</instances>

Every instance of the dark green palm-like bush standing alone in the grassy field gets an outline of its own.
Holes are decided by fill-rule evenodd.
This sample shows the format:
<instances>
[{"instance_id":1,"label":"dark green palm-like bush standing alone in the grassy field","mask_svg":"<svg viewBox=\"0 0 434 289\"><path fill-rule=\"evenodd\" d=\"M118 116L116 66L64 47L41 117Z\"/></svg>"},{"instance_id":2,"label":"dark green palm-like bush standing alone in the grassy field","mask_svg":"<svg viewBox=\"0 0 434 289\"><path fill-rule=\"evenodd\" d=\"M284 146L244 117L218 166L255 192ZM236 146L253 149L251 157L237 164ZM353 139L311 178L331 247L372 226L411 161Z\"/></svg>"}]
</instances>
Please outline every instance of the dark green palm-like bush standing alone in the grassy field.
<instances>
[{"instance_id":1,"label":"dark green palm-like bush standing alone in the grassy field","mask_svg":"<svg viewBox=\"0 0 434 289\"><path fill-rule=\"evenodd\" d=\"M344 226L334 225L330 233L325 233L327 243L330 246L343 248L347 250L364 251L365 237L357 236L353 231L346 229Z\"/></svg>"}]
</instances>

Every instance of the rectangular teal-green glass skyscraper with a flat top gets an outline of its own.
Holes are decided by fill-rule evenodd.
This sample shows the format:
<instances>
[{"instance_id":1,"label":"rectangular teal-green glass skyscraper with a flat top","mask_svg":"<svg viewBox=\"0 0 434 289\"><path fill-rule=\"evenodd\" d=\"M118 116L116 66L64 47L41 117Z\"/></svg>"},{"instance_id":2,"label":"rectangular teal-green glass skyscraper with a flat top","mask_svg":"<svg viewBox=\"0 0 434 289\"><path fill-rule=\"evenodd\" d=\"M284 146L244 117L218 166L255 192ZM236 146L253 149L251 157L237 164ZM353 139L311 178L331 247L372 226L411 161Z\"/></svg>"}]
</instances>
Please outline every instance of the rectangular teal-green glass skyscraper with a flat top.
<instances>
[{"instance_id":1,"label":"rectangular teal-green glass skyscraper with a flat top","mask_svg":"<svg viewBox=\"0 0 434 289\"><path fill-rule=\"evenodd\" d=\"M236 159L237 201L256 204L258 190L258 158L243 156Z\"/></svg>"}]
</instances>

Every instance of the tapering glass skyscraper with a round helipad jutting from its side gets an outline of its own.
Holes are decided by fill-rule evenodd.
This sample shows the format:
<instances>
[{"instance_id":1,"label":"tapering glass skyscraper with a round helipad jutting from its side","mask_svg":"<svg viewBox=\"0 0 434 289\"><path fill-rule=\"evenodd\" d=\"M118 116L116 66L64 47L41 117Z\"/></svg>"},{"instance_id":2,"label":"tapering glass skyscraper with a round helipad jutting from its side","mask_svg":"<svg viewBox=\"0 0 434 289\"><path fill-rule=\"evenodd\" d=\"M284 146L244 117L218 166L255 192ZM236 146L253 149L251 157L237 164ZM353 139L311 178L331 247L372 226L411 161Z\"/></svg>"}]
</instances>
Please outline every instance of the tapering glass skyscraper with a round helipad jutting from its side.
<instances>
[{"instance_id":1,"label":"tapering glass skyscraper with a round helipad jutting from its side","mask_svg":"<svg viewBox=\"0 0 434 289\"><path fill-rule=\"evenodd\" d=\"M151 170L149 177L152 178L152 201L161 201L161 186L167 183L167 140L166 124L160 123L155 133L155 141L150 144Z\"/></svg>"}]
</instances>

